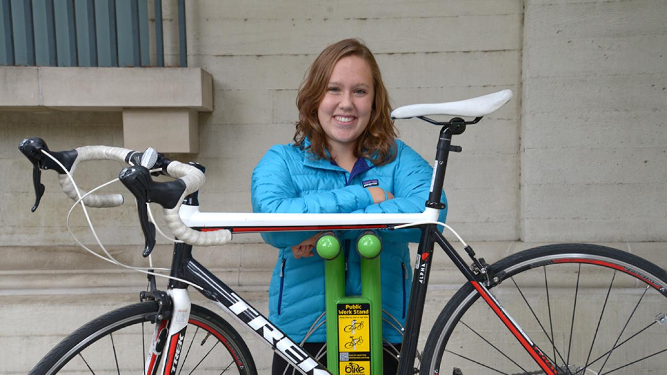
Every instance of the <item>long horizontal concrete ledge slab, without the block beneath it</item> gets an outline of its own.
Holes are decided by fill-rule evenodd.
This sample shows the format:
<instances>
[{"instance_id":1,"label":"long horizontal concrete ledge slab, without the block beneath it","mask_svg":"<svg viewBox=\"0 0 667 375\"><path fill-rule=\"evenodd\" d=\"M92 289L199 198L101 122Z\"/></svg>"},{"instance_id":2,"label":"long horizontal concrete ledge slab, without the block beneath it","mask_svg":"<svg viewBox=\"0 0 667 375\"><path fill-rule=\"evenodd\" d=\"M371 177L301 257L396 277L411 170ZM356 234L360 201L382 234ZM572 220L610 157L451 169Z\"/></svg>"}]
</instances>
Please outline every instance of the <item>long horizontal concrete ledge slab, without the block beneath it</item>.
<instances>
[{"instance_id":1,"label":"long horizontal concrete ledge slab, without the block beneath it","mask_svg":"<svg viewBox=\"0 0 667 375\"><path fill-rule=\"evenodd\" d=\"M213 111L213 77L200 67L0 67L0 79L0 109Z\"/></svg>"}]
</instances>

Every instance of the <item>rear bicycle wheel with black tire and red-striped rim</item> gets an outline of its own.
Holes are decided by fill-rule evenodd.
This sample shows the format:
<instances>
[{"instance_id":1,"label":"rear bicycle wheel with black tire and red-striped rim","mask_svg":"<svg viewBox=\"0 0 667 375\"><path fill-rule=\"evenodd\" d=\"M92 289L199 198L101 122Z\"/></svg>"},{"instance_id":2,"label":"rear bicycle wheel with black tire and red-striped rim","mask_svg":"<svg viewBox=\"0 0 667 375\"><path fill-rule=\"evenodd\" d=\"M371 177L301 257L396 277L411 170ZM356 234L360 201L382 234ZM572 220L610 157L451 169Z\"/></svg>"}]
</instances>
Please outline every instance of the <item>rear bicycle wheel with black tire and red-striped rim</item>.
<instances>
[{"instance_id":1,"label":"rear bicycle wheel with black tire and red-striped rim","mask_svg":"<svg viewBox=\"0 0 667 375\"><path fill-rule=\"evenodd\" d=\"M491 292L558 374L664 371L662 268L604 246L558 244L513 254L490 269L501 280ZM468 282L446 304L426 341L420 374L544 374L479 297Z\"/></svg>"}]
</instances>

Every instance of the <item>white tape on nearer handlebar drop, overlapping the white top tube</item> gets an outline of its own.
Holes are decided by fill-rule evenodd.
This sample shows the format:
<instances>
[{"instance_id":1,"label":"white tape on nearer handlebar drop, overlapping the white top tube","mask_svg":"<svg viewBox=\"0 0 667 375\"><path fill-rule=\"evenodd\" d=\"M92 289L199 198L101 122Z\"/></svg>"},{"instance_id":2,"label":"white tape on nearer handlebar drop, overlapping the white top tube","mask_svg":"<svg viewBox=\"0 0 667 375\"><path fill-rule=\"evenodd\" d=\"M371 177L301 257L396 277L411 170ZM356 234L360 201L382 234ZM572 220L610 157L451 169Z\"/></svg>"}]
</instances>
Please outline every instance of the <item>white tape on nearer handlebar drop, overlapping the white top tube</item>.
<instances>
[{"instance_id":1,"label":"white tape on nearer handlebar drop, overlapping the white top tube","mask_svg":"<svg viewBox=\"0 0 667 375\"><path fill-rule=\"evenodd\" d=\"M167 222L167 226L169 227L169 230L171 230L171 233L186 244L194 246L215 246L224 245L227 244L227 242L230 242L231 232L229 232L229 230L197 232L186 226L178 215L178 210L181 208L183 199L189 194L199 190L199 187L203 186L206 181L204 173L196 167L183 164L180 161L171 161L171 163L167 165L167 173L169 173L171 177L180 178L185 182L185 192L181 195L178 204L174 208L163 208L162 210L165 222Z\"/></svg>"}]
</instances>

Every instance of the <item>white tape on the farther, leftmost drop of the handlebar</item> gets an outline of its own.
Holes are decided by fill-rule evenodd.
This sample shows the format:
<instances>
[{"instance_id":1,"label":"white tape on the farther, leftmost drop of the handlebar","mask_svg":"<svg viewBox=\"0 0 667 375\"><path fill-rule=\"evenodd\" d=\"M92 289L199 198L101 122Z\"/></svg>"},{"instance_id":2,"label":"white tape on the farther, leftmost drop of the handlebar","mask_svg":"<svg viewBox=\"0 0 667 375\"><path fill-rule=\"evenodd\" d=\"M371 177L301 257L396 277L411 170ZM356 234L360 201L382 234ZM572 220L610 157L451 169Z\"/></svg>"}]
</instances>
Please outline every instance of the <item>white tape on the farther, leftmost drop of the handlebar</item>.
<instances>
[{"instance_id":1,"label":"white tape on the farther, leftmost drop of the handlebar","mask_svg":"<svg viewBox=\"0 0 667 375\"><path fill-rule=\"evenodd\" d=\"M122 147L109 147L109 146L83 146L77 148L77 158L74 160L69 173L74 174L74 171L79 163L82 161L89 160L115 160L125 163L125 155L132 152L131 149L126 149ZM67 194L72 200L79 200L77 192L74 188L73 183L69 180L66 174L58 175L58 182L60 187L62 187L63 192ZM86 192L79 190L81 196L85 195ZM83 198L83 203L89 207L96 208L106 208L106 207L117 207L123 204L123 196L120 194L91 194L86 198Z\"/></svg>"}]
</instances>

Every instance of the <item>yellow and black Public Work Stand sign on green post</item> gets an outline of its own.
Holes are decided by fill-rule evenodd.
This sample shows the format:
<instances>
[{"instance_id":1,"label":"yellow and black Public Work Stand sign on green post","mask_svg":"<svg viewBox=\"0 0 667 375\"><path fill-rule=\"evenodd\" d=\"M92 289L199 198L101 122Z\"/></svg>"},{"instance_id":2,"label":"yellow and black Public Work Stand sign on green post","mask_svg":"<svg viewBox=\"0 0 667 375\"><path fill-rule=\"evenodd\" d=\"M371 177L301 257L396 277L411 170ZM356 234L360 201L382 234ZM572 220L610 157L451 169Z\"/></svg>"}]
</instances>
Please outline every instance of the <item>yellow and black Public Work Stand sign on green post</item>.
<instances>
[{"instance_id":1,"label":"yellow and black Public Work Stand sign on green post","mask_svg":"<svg viewBox=\"0 0 667 375\"><path fill-rule=\"evenodd\" d=\"M370 304L338 304L339 372L370 375Z\"/></svg>"}]
</instances>

